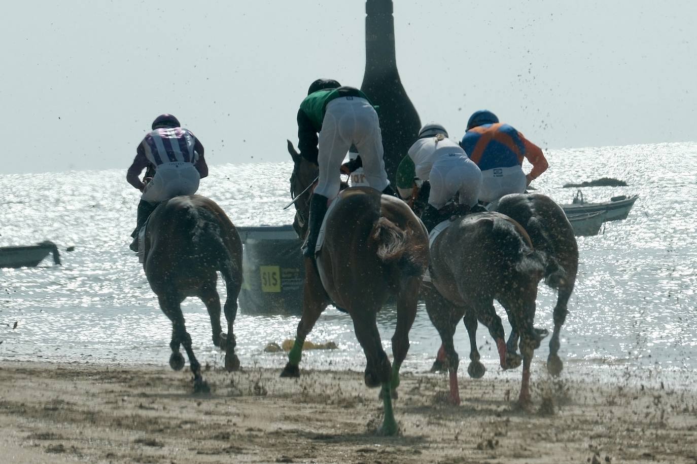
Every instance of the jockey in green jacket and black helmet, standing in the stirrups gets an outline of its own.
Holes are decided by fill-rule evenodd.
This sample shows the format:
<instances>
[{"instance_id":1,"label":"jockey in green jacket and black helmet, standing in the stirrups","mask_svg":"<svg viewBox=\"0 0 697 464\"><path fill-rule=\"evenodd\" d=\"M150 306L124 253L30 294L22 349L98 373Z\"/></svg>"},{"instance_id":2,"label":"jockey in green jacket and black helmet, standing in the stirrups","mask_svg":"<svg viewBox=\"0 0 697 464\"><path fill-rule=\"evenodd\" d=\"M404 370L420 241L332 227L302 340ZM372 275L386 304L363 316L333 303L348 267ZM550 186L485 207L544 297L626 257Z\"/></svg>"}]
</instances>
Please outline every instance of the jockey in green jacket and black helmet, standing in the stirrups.
<instances>
[{"instance_id":1,"label":"jockey in green jacket and black helmet, standing in the stirrups","mask_svg":"<svg viewBox=\"0 0 697 464\"><path fill-rule=\"evenodd\" d=\"M393 195L394 191L385 172L378 114L357 88L342 87L333 79L314 81L298 110L298 139L302 157L319 166L319 182L309 206L309 231L302 245L302 254L314 257L328 202L339 193L342 161L352 144L360 153L367 184L383 193Z\"/></svg>"}]
</instances>

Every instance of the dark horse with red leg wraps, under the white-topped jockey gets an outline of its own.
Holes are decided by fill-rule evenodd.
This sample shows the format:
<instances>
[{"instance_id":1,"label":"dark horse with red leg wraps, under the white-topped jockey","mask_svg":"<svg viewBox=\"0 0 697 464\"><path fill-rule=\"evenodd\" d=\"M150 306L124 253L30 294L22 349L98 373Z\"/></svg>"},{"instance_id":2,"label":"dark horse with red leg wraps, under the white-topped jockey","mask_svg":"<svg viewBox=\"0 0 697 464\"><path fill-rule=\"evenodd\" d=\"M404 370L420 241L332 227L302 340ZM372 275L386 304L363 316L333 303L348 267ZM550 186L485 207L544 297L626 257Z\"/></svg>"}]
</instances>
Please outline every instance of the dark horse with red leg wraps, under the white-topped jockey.
<instances>
[{"instance_id":1,"label":"dark horse with red leg wraps, under the white-topped jockey","mask_svg":"<svg viewBox=\"0 0 697 464\"><path fill-rule=\"evenodd\" d=\"M537 282L542 278L544 257L533 250L525 230L511 218L498 213L475 213L454 218L450 227L431 245L432 287L424 290L426 309L441 335L441 352L450 372L450 401L459 404L457 367L459 357L453 335L463 319L470 343L474 345L473 327L477 319L484 323L496 340L500 364L504 369L516 367L520 358L507 353L501 319L493 301L507 311L512 326L521 334L523 379L519 399L530 401L530 361L533 351L546 330L533 327ZM425 287L425 286L424 286ZM471 376L484 374L477 351L470 352Z\"/></svg>"}]
</instances>

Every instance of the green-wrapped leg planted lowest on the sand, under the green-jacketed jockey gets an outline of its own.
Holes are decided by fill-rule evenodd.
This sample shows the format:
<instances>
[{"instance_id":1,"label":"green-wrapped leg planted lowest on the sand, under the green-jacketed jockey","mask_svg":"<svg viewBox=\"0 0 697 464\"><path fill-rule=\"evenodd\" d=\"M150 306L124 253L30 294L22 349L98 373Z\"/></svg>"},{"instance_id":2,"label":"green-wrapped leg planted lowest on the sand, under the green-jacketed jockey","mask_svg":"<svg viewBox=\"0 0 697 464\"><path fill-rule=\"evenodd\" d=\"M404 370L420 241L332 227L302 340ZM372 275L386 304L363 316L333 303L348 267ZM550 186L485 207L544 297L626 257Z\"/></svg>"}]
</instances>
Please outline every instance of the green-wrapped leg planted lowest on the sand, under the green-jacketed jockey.
<instances>
[{"instance_id":1,"label":"green-wrapped leg planted lowest on the sand, under the green-jacketed jockey","mask_svg":"<svg viewBox=\"0 0 697 464\"><path fill-rule=\"evenodd\" d=\"M381 397L385 411L385 418L378 433L381 435L397 434L397 421L392 410L392 369L388 355L383 350L380 341L380 333L375 321L376 310L361 310L351 313L353 330L363 348L367 367L365 369L365 385L376 387L382 385Z\"/></svg>"}]
</instances>

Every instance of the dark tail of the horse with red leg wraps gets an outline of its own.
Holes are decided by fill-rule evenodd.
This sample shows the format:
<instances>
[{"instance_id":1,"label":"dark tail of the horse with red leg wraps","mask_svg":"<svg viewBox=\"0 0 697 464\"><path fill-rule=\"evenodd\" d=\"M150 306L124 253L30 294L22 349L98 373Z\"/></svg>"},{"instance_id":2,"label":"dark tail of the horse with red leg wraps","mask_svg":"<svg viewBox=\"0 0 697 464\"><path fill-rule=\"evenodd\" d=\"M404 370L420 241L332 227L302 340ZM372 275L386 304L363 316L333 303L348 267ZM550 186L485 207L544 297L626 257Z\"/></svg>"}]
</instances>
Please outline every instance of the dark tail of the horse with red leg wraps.
<instances>
[{"instance_id":1,"label":"dark tail of the horse with red leg wraps","mask_svg":"<svg viewBox=\"0 0 697 464\"><path fill-rule=\"evenodd\" d=\"M493 222L491 231L501 254L508 257L517 272L524 275L544 275L546 253L534 250L532 243L521 234L514 223L507 220Z\"/></svg>"}]
</instances>

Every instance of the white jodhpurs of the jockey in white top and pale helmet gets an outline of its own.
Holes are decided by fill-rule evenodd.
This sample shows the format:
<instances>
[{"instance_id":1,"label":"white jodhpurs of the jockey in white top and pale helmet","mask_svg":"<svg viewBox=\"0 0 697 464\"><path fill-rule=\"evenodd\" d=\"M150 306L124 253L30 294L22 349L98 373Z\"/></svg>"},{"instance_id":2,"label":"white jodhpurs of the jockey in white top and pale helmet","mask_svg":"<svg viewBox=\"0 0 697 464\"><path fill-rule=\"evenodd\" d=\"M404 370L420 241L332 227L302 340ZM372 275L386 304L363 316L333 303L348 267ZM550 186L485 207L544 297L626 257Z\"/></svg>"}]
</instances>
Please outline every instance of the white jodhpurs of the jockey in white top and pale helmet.
<instances>
[{"instance_id":1,"label":"white jodhpurs of the jockey in white top and pale helmet","mask_svg":"<svg viewBox=\"0 0 697 464\"><path fill-rule=\"evenodd\" d=\"M439 156L431 168L431 193L429 205L441 209L445 203L459 193L460 205L473 207L477 204L482 187L482 171L461 153Z\"/></svg>"}]
</instances>

